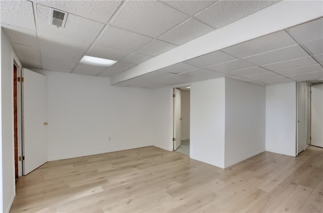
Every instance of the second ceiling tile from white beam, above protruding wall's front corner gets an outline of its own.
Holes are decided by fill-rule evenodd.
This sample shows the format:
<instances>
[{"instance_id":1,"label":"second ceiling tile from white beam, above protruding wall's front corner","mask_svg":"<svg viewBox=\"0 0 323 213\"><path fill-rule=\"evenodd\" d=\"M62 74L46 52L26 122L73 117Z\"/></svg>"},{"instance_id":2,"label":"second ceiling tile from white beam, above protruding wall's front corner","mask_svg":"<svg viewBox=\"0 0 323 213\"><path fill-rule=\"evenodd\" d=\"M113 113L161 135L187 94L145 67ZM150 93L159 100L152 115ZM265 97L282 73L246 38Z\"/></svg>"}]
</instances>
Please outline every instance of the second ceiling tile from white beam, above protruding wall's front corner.
<instances>
[{"instance_id":1,"label":"second ceiling tile from white beam, above protruding wall's front corner","mask_svg":"<svg viewBox=\"0 0 323 213\"><path fill-rule=\"evenodd\" d=\"M251 67L254 67L254 65L248 62L245 62L243 60L237 59L234 61L229 61L226 63L209 66L207 67L207 69L211 69L218 72L230 72L238 69L251 68Z\"/></svg>"}]
</instances>

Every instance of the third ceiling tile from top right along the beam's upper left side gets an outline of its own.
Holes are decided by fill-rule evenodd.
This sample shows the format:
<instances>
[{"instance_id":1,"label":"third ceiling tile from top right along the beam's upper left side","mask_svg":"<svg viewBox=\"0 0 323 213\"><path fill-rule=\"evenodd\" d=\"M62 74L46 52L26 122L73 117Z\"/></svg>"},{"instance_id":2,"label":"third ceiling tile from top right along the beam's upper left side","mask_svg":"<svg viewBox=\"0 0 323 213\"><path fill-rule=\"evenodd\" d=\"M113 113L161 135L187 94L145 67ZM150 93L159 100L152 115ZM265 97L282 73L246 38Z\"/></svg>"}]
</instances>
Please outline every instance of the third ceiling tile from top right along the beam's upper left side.
<instances>
[{"instance_id":1,"label":"third ceiling tile from top right along the beam's upper left side","mask_svg":"<svg viewBox=\"0 0 323 213\"><path fill-rule=\"evenodd\" d=\"M139 50L137 50L137 53L141 53L144 55L149 55L149 56L157 56L160 54L163 54L171 49L176 48L177 46L174 44L170 44L164 41L160 40L154 40L150 42L149 44L143 46Z\"/></svg>"}]
</instances>

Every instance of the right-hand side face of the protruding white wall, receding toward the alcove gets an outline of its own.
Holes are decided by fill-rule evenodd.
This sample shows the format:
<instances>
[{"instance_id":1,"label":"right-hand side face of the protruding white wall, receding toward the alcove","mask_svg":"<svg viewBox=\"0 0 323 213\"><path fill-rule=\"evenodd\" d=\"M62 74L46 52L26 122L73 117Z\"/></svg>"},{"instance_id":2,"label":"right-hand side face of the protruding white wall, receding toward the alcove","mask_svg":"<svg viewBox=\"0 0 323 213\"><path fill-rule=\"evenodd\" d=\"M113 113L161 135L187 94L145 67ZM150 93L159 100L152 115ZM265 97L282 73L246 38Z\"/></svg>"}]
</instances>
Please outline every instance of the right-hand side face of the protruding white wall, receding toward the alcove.
<instances>
[{"instance_id":1,"label":"right-hand side face of the protruding white wall, receding toward the alcove","mask_svg":"<svg viewBox=\"0 0 323 213\"><path fill-rule=\"evenodd\" d=\"M225 167L265 151L265 86L226 78Z\"/></svg>"}]
</instances>

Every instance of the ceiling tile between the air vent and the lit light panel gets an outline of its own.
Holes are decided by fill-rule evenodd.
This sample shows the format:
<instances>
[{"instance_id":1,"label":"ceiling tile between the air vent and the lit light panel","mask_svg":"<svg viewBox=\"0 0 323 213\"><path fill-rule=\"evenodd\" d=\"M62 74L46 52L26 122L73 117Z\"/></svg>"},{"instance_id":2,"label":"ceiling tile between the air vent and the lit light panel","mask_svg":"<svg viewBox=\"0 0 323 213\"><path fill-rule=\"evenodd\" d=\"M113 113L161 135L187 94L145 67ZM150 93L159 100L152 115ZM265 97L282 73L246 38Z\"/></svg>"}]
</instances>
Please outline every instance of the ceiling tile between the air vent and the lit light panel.
<instances>
[{"instance_id":1,"label":"ceiling tile between the air vent and the lit light panel","mask_svg":"<svg viewBox=\"0 0 323 213\"><path fill-rule=\"evenodd\" d=\"M83 55L91 43L40 32L39 44L40 48Z\"/></svg>"}]
</instances>

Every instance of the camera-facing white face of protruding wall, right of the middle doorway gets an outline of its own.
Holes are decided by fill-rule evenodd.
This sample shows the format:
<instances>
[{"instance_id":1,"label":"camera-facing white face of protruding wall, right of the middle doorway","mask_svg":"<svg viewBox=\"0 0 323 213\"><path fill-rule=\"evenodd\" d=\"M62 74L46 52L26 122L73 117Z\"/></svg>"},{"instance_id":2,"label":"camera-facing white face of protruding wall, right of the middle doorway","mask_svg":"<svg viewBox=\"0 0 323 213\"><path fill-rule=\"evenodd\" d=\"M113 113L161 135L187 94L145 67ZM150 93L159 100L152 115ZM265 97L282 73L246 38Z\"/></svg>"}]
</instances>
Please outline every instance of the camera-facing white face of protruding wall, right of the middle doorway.
<instances>
[{"instance_id":1,"label":"camera-facing white face of protruding wall, right of the middle doorway","mask_svg":"<svg viewBox=\"0 0 323 213\"><path fill-rule=\"evenodd\" d=\"M224 168L225 78L191 84L190 157Z\"/></svg>"}]
</instances>

